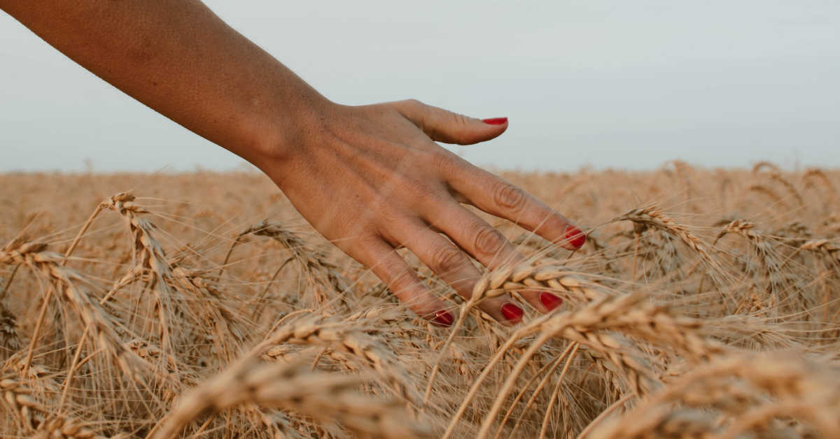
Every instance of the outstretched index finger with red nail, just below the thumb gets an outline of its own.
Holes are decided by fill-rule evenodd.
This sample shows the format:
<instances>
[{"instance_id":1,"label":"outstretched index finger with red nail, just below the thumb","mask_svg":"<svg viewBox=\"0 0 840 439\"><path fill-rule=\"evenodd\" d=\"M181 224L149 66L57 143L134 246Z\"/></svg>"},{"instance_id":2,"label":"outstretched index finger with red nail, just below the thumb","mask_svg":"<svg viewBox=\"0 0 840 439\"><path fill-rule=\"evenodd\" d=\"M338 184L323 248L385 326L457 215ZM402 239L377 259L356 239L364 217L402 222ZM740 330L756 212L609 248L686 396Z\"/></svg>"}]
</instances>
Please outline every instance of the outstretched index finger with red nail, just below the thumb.
<instances>
[{"instance_id":1,"label":"outstretched index finger with red nail, just below the thumb","mask_svg":"<svg viewBox=\"0 0 840 439\"><path fill-rule=\"evenodd\" d=\"M486 170L461 162L456 165L461 169L449 172L449 186L470 204L570 250L586 242L580 227L528 192Z\"/></svg>"}]
</instances>

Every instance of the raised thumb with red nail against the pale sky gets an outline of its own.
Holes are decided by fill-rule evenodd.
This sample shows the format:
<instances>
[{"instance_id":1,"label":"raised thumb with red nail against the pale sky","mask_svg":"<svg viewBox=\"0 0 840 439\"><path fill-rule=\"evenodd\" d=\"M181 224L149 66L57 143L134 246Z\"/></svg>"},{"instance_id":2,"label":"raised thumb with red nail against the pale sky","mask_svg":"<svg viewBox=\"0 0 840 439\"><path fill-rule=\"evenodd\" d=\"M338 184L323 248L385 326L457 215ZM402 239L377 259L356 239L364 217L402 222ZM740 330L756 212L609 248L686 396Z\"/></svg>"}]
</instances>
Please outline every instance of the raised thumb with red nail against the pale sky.
<instances>
[{"instance_id":1,"label":"raised thumb with red nail against the pale sky","mask_svg":"<svg viewBox=\"0 0 840 439\"><path fill-rule=\"evenodd\" d=\"M444 144L477 144L495 138L507 129L507 118L469 118L415 99L393 104L396 111L422 129L429 138Z\"/></svg>"}]
</instances>

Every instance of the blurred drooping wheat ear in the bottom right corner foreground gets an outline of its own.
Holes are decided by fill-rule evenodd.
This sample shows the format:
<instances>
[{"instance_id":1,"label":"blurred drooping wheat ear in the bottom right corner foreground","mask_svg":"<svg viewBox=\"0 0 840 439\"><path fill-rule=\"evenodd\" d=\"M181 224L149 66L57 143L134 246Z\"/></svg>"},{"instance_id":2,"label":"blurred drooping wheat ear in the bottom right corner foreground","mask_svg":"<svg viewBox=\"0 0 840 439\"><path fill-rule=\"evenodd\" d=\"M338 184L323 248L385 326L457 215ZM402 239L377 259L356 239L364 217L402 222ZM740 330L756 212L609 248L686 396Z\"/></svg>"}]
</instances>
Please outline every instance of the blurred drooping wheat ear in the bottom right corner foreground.
<instances>
[{"instance_id":1,"label":"blurred drooping wheat ear in the bottom right corner foreground","mask_svg":"<svg viewBox=\"0 0 840 439\"><path fill-rule=\"evenodd\" d=\"M751 386L732 383L738 379ZM713 389L713 390L711 390ZM780 400L783 405L770 405L773 410L759 409L761 416L745 415L747 404L765 392ZM795 405L785 404L796 401ZM717 358L711 363L691 371L669 384L659 394L638 405L627 415L593 431L594 438L642 437L661 428L672 415L670 405L704 407L715 405L719 409L734 410L748 422L736 422L722 437L736 437L753 426L765 426L774 415L794 415L811 423L824 437L840 435L840 379L837 370L812 363L798 356L786 354L740 353ZM759 405L761 407L762 405ZM785 411L781 411L784 407ZM719 426L720 423L717 422ZM717 431L717 428L712 431Z\"/></svg>"}]
</instances>

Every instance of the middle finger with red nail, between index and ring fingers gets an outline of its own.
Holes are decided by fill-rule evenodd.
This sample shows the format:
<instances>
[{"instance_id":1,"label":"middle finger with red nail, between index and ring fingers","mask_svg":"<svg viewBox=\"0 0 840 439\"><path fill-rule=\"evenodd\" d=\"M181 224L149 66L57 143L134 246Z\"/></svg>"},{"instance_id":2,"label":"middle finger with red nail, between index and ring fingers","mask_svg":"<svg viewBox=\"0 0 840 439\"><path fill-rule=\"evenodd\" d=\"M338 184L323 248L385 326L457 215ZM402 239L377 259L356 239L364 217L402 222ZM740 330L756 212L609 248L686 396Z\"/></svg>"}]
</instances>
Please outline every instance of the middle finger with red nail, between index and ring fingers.
<instances>
[{"instance_id":1,"label":"middle finger with red nail, between index and ring fingers","mask_svg":"<svg viewBox=\"0 0 840 439\"><path fill-rule=\"evenodd\" d=\"M507 238L501 232L481 218L476 217L472 212L467 211L463 206L453 202L440 209L438 213L438 221L440 221L438 227L458 243L461 248L478 259L481 264L490 269L500 269L501 267L525 262L522 254L517 252L517 249L507 241ZM440 237L440 239L444 238ZM438 249L435 251L451 250ZM419 254L417 256L420 257ZM466 259L466 255L464 255L464 258ZM425 260L423 262L429 264ZM432 265L429 265L429 267L433 268ZM438 271L435 270L435 273L438 273ZM470 291L472 291L471 285ZM522 290L519 291L519 295L540 312L551 311L561 303L560 298L549 291ZM507 300L508 296L505 295L505 297L505 300ZM490 313L490 311L486 312Z\"/></svg>"}]
</instances>

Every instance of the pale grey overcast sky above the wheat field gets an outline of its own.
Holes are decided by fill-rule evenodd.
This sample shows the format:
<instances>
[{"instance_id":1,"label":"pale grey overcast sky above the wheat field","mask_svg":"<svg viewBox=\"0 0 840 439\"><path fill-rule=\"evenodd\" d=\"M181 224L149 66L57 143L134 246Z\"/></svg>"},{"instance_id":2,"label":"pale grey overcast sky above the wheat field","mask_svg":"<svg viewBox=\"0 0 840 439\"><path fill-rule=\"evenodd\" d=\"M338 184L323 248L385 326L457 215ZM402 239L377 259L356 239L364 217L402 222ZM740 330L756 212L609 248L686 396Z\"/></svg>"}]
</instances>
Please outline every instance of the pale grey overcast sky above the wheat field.
<instances>
[{"instance_id":1,"label":"pale grey overcast sky above the wheat field","mask_svg":"<svg viewBox=\"0 0 840 439\"><path fill-rule=\"evenodd\" d=\"M205 2L333 102L507 116L493 169L840 167L840 2ZM0 172L241 169L0 12Z\"/></svg>"}]
</instances>

